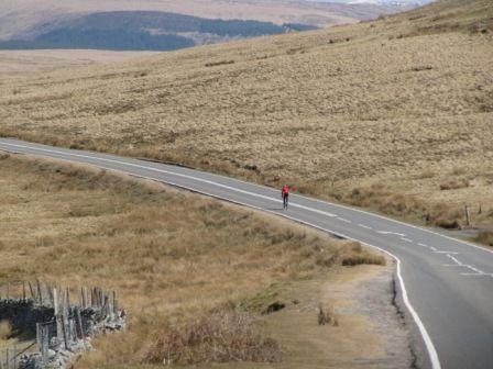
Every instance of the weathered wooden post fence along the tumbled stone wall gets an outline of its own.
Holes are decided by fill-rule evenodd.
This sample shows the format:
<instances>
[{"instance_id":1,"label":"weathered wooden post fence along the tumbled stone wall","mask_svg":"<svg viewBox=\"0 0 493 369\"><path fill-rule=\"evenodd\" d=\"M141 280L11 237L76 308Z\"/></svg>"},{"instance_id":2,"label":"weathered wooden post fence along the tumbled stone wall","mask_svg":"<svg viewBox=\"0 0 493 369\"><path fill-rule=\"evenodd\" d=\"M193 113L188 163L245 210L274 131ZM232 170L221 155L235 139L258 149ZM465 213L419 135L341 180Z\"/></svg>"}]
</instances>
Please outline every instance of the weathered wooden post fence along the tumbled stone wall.
<instances>
[{"instance_id":1,"label":"weathered wooden post fence along the tumbled stone wall","mask_svg":"<svg viewBox=\"0 0 493 369\"><path fill-rule=\"evenodd\" d=\"M48 283L19 282L0 286L0 322L30 337L24 347L0 349L0 369L63 367L70 353L88 349L90 337L124 327L114 291L100 288L70 290Z\"/></svg>"}]
</instances>

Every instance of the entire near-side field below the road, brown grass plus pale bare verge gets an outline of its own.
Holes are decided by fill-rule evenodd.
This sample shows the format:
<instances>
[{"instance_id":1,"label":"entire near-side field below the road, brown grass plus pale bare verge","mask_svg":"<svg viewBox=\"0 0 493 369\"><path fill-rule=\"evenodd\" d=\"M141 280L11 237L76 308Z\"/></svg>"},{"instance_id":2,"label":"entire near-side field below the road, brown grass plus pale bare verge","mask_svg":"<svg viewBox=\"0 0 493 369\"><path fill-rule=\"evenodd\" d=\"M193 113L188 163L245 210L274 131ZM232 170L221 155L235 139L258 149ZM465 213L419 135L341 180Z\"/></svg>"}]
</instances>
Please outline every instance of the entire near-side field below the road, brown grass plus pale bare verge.
<instances>
[{"instance_id":1,"label":"entire near-side field below the road, brown grass plus pale bare verge","mask_svg":"<svg viewBox=\"0 0 493 369\"><path fill-rule=\"evenodd\" d=\"M313 368L342 360L350 368L353 360L394 360L391 353L408 359L405 332L396 346L376 318L384 309L393 332L403 332L393 321L393 266L379 266L385 259L359 244L102 170L1 155L0 171L0 286L35 278L99 286L114 289L130 312L129 331L96 340L98 349L78 368L160 364L166 354L166 346L156 345L162 339L182 353L176 362L188 364L190 350L195 358L204 347L187 345L187 329L217 333L231 318L243 322L226 324L235 332L231 346L259 361L281 358L277 368L285 360ZM341 267L355 258L374 265ZM383 305L361 311L363 300L374 294ZM260 314L274 302L286 304L285 310ZM319 303L341 329L317 325ZM200 318L217 325L200 326ZM250 320L260 320L259 333L249 333ZM8 332L1 322L0 347ZM250 346L253 340L253 349L245 349L243 339ZM347 342L352 345L346 347ZM327 350L327 343L335 349ZM200 353L201 361L213 356Z\"/></svg>"}]
</instances>

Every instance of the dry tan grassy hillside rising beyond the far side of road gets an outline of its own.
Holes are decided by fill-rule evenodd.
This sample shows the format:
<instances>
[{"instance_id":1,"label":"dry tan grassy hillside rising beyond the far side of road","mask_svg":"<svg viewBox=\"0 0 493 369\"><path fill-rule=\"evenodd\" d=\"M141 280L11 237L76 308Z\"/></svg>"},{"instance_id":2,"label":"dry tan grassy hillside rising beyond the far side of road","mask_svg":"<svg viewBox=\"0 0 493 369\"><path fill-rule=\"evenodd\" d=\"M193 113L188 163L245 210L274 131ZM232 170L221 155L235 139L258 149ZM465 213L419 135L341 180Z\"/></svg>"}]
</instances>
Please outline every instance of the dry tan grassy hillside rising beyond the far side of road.
<instances>
[{"instance_id":1,"label":"dry tan grassy hillside rising beyond the far side of road","mask_svg":"<svg viewBox=\"0 0 493 369\"><path fill-rule=\"evenodd\" d=\"M226 172L430 225L493 222L493 7L3 81L3 135ZM481 206L480 206L481 205Z\"/></svg>"}]
</instances>

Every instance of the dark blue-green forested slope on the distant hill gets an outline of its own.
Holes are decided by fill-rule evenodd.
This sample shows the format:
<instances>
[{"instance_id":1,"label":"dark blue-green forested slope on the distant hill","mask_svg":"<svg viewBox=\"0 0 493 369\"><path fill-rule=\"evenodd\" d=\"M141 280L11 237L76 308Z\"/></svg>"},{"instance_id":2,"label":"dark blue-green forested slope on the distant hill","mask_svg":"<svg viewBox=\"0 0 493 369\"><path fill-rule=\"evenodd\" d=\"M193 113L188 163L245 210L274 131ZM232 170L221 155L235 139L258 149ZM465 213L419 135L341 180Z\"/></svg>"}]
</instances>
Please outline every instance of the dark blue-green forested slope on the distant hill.
<instances>
[{"instance_id":1,"label":"dark blue-green forested slope on the distant hill","mask_svg":"<svg viewBox=\"0 0 493 369\"><path fill-rule=\"evenodd\" d=\"M153 11L103 12L44 23L25 38L0 42L0 49L174 51L231 38L315 29L307 24L208 20Z\"/></svg>"}]
</instances>

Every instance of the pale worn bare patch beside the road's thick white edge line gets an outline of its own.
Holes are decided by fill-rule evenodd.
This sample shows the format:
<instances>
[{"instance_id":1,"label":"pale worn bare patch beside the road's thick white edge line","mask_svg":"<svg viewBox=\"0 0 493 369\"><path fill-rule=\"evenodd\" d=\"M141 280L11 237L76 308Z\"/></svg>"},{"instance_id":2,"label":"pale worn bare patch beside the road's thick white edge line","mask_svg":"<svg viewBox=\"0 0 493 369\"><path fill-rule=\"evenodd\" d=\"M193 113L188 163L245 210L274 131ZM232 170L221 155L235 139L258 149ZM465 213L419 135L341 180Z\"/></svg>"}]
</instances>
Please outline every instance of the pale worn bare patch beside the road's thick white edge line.
<instances>
[{"instance_id":1,"label":"pale worn bare patch beside the road's thick white edge line","mask_svg":"<svg viewBox=\"0 0 493 369\"><path fill-rule=\"evenodd\" d=\"M262 329L282 345L285 357L269 367L410 368L407 331L392 304L394 265L387 264L339 268L310 280L271 287L269 293L276 291L286 308L265 315ZM320 305L337 324L319 323Z\"/></svg>"}]
</instances>

